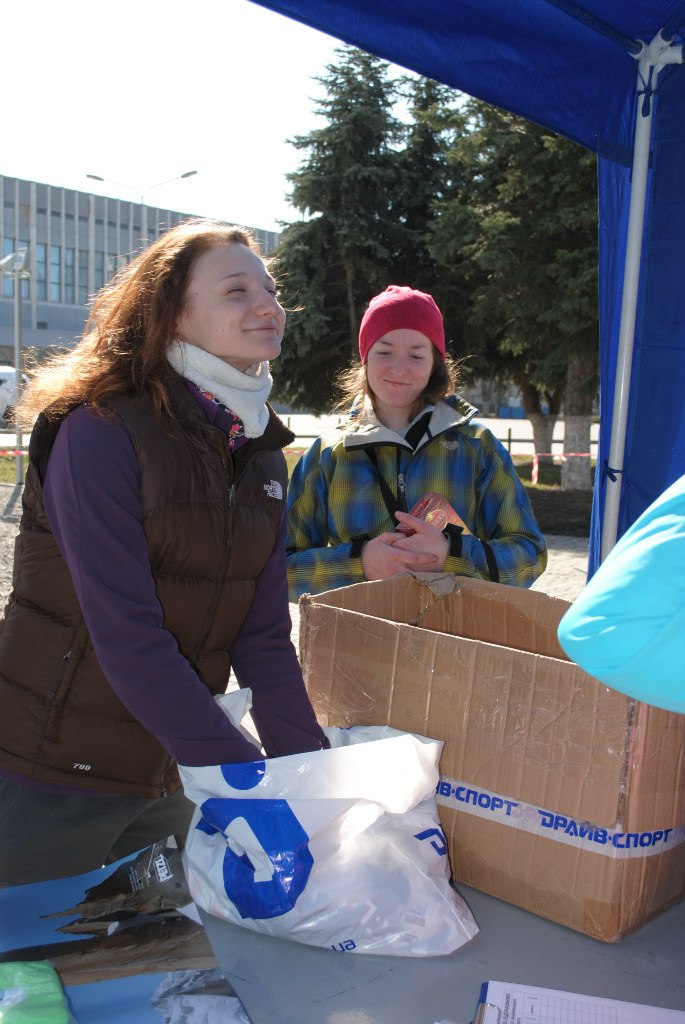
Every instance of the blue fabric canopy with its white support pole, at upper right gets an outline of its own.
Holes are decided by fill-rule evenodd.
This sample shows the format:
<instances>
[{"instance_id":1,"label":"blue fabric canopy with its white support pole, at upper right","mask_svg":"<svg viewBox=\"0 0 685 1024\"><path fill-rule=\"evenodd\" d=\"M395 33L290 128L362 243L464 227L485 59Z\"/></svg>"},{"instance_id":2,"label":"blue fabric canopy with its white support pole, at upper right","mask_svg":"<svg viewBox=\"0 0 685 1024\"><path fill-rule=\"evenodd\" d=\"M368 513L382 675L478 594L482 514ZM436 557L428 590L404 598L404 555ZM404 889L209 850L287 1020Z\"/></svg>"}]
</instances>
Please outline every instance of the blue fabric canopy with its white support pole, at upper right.
<instances>
[{"instance_id":1,"label":"blue fabric canopy with its white support pole, at upper right","mask_svg":"<svg viewBox=\"0 0 685 1024\"><path fill-rule=\"evenodd\" d=\"M592 570L602 550L685 473L685 3L256 2L597 153L601 382Z\"/></svg>"}]
</instances>

